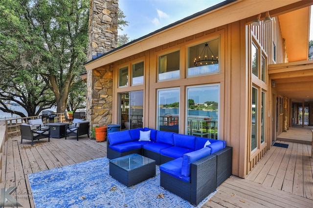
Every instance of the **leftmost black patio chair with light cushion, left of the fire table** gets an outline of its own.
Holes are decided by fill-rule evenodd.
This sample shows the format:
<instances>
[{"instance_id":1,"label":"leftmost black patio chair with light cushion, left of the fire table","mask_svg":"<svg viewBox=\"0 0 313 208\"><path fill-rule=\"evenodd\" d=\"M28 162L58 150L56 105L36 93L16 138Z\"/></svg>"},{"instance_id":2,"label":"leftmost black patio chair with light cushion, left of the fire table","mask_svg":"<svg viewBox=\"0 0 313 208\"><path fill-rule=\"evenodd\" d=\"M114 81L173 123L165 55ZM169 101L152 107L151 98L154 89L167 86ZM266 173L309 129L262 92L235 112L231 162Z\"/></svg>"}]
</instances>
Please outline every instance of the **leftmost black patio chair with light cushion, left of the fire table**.
<instances>
[{"instance_id":1,"label":"leftmost black patio chair with light cushion, left of the fire table","mask_svg":"<svg viewBox=\"0 0 313 208\"><path fill-rule=\"evenodd\" d=\"M48 138L48 142L50 142L50 134L49 128L45 129L32 129L32 125L29 124L21 124L21 144L23 143L23 139L31 140L31 145L34 144L34 140Z\"/></svg>"}]
</instances>

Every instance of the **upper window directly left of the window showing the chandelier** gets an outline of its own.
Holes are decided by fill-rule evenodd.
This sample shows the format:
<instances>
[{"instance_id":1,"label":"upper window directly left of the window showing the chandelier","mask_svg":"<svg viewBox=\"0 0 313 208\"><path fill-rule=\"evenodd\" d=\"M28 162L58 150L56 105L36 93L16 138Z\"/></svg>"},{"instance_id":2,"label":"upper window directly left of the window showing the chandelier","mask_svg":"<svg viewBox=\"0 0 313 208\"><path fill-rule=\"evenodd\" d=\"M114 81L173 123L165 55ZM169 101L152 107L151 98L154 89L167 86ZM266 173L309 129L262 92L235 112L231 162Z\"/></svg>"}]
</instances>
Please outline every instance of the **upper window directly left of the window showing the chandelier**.
<instances>
[{"instance_id":1,"label":"upper window directly left of the window showing the chandelier","mask_svg":"<svg viewBox=\"0 0 313 208\"><path fill-rule=\"evenodd\" d=\"M158 57L158 80L179 78L179 51Z\"/></svg>"}]
</instances>

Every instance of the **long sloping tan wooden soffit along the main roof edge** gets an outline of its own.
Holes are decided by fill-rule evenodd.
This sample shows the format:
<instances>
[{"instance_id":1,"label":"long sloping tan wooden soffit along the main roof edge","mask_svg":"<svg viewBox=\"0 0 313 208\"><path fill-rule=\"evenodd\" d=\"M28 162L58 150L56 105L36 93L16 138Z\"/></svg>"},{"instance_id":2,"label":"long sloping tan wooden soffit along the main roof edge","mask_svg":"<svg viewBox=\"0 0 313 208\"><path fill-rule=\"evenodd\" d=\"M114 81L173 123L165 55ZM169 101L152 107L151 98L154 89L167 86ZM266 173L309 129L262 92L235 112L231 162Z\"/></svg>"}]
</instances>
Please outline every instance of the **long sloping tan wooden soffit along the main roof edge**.
<instances>
[{"instance_id":1,"label":"long sloping tan wooden soffit along the main roof edge","mask_svg":"<svg viewBox=\"0 0 313 208\"><path fill-rule=\"evenodd\" d=\"M172 25L161 28L154 33L134 40L102 57L86 63L85 67L87 70L91 70L157 46L242 19L245 19L246 23L249 23L260 13L262 13L262 20L262 18L265 18L266 11L270 11L270 15L274 17L289 10L293 11L299 7L303 8L312 3L312 0L237 0L218 8L214 7L214 10L209 10L194 18L187 17Z\"/></svg>"}]
</instances>

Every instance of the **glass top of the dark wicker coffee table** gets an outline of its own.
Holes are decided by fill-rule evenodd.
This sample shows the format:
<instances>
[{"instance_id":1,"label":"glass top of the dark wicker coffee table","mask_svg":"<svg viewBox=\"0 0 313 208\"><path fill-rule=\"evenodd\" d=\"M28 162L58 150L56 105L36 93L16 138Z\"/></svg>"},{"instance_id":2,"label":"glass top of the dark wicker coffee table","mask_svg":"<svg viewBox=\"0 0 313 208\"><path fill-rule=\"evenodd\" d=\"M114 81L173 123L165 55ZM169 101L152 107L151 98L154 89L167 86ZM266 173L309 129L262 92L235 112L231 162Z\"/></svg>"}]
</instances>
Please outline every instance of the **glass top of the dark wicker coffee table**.
<instances>
[{"instance_id":1,"label":"glass top of the dark wicker coffee table","mask_svg":"<svg viewBox=\"0 0 313 208\"><path fill-rule=\"evenodd\" d=\"M144 157L139 154L130 154L110 160L110 163L113 163L118 167L128 171L134 170L136 168L139 168L152 162L155 162L155 160L150 159L148 157Z\"/></svg>"}]
</instances>

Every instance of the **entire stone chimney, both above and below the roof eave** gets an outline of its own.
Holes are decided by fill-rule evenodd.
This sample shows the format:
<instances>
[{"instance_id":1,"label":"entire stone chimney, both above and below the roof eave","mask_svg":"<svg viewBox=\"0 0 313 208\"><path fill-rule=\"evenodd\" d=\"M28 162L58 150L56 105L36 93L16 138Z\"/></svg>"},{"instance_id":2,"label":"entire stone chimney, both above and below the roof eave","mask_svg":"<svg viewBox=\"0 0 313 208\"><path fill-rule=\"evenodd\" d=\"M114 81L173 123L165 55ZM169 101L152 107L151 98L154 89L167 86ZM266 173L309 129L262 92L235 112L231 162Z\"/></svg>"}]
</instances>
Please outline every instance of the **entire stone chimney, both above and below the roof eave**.
<instances>
[{"instance_id":1,"label":"entire stone chimney, both above and below the roof eave","mask_svg":"<svg viewBox=\"0 0 313 208\"><path fill-rule=\"evenodd\" d=\"M117 47L118 0L91 0L88 61ZM87 72L87 113L91 129L112 124L112 66ZM91 134L92 135L92 134Z\"/></svg>"}]
</instances>

